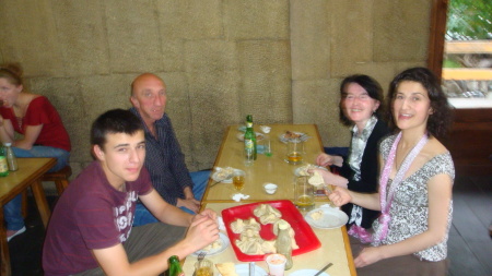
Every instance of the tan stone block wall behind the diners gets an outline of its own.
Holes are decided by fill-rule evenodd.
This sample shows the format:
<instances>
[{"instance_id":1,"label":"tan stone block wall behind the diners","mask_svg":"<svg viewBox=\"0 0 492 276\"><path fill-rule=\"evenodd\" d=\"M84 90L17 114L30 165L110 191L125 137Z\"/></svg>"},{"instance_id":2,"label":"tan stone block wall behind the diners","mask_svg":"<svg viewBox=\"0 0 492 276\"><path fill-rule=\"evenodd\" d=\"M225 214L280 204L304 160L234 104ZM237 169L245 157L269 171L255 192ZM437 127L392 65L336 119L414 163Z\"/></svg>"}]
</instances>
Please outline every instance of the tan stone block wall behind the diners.
<instances>
[{"instance_id":1,"label":"tan stone block wall behind the diners","mask_svg":"<svg viewBox=\"0 0 492 276\"><path fill-rule=\"evenodd\" d=\"M431 0L2 0L0 62L59 110L71 165L91 161L89 129L128 108L142 72L167 83L167 113L190 170L213 165L224 130L317 123L325 146L347 146L338 86L365 73L387 87L425 65Z\"/></svg>"}]
</instances>

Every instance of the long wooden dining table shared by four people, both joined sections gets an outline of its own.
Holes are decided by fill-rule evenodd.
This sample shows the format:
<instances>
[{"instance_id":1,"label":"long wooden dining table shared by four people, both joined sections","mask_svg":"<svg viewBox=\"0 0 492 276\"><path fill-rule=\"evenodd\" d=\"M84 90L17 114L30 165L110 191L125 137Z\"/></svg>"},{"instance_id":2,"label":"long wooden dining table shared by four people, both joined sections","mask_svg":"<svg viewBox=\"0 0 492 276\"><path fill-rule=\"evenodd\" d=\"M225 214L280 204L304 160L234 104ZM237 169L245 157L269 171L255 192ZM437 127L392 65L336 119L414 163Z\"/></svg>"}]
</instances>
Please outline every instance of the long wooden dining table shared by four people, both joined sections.
<instances>
[{"instance_id":1,"label":"long wooden dining table shared by four people, both joined sections","mask_svg":"<svg viewBox=\"0 0 492 276\"><path fill-rule=\"evenodd\" d=\"M255 128L257 132L257 145L261 149L263 141L270 140L272 155L267 156L258 151L257 158L253 165L245 163L244 158L244 127L230 125L226 128L219 153L214 163L214 170L206 188L206 192L201 200L201 208L213 209L222 220L223 212L232 208L246 206L247 204L261 204L262 202L293 201L294 200L294 182L298 175L298 169L308 164L316 164L316 157L324 152L321 139L316 124L268 124L271 128L269 133L262 133L260 128ZM303 160L300 164L291 164L286 158L286 144L284 137L286 132L301 133L304 137L302 147ZM241 191L247 195L247 199L235 201L233 195L237 193L231 182L219 182L214 176L218 170L223 168L234 168L245 171L245 184ZM273 194L265 191L265 183L274 183L278 185ZM237 199L236 199L237 200ZM246 204L246 205L245 205ZM315 208L333 207L326 195L315 196ZM297 212L297 211L295 211ZM308 211L298 211L303 218ZM303 221L304 223L304 221ZM224 226L223 226L224 227ZM350 248L349 237L344 225L335 228L316 228L312 227L312 231L320 242L320 247L309 252L293 256L293 267L285 271L285 276L291 274L300 275L298 272L309 272L305 276L314 275L314 271L318 271L328 263L332 266L326 271L324 275L344 276L356 275L352 251ZM227 232L222 228L222 237ZM315 238L315 239L316 239ZM214 264L232 262L241 267L248 265L248 262L238 260L236 252L231 245L235 242L234 238L227 238L229 245L219 254L208 255L207 259ZM192 254L183 263L186 275L194 275L197 254ZM263 260L255 262L259 268L266 273L256 276L266 276L268 273L267 264ZM308 271L305 271L308 269ZM294 273L297 272L297 273ZM312 273L312 274L311 274ZM214 275L220 275L214 268ZM248 275L239 273L239 276Z\"/></svg>"}]
</instances>

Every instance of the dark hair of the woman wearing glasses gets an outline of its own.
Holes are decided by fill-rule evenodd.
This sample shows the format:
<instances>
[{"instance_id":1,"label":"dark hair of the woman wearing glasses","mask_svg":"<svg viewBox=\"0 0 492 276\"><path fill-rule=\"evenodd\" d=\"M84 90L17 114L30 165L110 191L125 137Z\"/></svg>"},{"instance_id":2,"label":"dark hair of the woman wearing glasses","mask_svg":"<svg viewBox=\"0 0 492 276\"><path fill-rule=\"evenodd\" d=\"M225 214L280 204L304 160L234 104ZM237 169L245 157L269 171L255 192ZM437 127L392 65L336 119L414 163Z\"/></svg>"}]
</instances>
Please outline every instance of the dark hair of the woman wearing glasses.
<instances>
[{"instance_id":1,"label":"dark hair of the woman wearing glasses","mask_svg":"<svg viewBox=\"0 0 492 276\"><path fill-rule=\"evenodd\" d=\"M342 108L342 101L347 96L345 88L351 83L356 83L361 85L361 87L367 92L367 95L371 98L379 100L379 107L376 109L375 116L377 117L377 119L382 119L384 115L384 105L383 105L383 88L380 87L379 83L368 75L354 74L343 79L342 83L340 84L340 96L341 96L339 104L340 121L345 125L353 124L353 122L349 118L347 118L347 116L343 113Z\"/></svg>"}]
</instances>

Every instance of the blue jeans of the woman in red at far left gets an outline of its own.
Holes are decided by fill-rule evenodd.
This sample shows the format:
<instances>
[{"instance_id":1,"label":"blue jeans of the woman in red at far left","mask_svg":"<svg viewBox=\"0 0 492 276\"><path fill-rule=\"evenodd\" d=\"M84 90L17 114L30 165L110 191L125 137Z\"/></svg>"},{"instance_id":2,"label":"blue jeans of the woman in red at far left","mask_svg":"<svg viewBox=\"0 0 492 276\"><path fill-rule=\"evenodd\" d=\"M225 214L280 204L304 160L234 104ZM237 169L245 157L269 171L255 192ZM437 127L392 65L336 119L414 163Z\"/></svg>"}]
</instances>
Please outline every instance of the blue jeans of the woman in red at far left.
<instances>
[{"instance_id":1,"label":"blue jeans of the woman in red at far left","mask_svg":"<svg viewBox=\"0 0 492 276\"><path fill-rule=\"evenodd\" d=\"M62 169L68 164L70 153L51 146L33 146L31 149L12 147L16 157L55 157L57 164L49 172ZM20 230L24 227L24 218L21 214L22 194L19 194L9 203L3 205L3 216L7 223L7 230Z\"/></svg>"}]
</instances>

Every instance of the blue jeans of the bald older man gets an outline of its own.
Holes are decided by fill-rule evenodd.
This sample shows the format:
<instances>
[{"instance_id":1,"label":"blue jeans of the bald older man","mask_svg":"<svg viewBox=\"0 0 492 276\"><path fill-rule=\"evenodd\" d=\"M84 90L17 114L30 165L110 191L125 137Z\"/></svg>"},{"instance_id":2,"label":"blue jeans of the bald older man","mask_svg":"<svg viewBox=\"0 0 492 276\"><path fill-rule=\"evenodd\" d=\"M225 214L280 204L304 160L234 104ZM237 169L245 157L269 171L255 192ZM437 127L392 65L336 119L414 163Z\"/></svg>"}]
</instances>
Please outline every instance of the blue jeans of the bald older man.
<instances>
[{"instance_id":1,"label":"blue jeans of the bald older man","mask_svg":"<svg viewBox=\"0 0 492 276\"><path fill-rule=\"evenodd\" d=\"M210 177L210 170L200 170L200 171L194 171L190 172L189 176L191 177L191 181L194 181L194 196L197 201L201 201L201 197L203 197L203 193L207 187L207 182L209 181ZM190 211L187 207L179 207L180 209L185 211L189 214L195 214L192 211ZM153 224L157 223L159 219L155 218L149 209L143 206L143 204L138 203L137 207L134 209L134 218L133 218L133 227L134 226L142 226L147 224Z\"/></svg>"}]
</instances>

